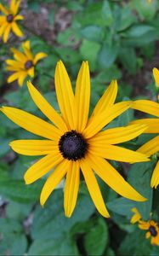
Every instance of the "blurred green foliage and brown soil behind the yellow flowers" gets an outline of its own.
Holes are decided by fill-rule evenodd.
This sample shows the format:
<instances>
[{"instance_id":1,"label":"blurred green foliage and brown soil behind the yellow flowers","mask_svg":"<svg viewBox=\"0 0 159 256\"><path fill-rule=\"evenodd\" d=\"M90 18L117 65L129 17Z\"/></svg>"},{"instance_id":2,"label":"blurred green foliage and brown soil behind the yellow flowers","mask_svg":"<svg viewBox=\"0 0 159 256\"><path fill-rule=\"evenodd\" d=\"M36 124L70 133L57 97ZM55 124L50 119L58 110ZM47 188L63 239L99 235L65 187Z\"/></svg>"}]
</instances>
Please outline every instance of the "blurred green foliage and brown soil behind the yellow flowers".
<instances>
[{"instance_id":1,"label":"blurred green foliage and brown soil behind the yellow flowers","mask_svg":"<svg viewBox=\"0 0 159 256\"><path fill-rule=\"evenodd\" d=\"M9 1L0 3L8 5ZM117 102L129 98L156 101L152 68L159 67L158 11L157 0L21 1L20 14L24 20L20 27L25 36L10 36L7 44L0 41L0 104L43 117L31 101L26 81L21 88L17 81L7 83L9 72L5 60L12 58L9 48L19 49L24 40L31 41L34 54L39 51L48 54L37 65L33 84L56 109L54 68L59 60L64 61L73 86L82 60L88 60L91 109L111 79L117 79L119 84ZM131 119L132 110L113 125L127 125ZM64 215L63 184L42 208L38 200L44 179L28 186L23 179L26 169L37 158L15 154L9 148L9 142L15 139L34 137L0 113L0 255L159 255L159 248L145 240L143 230L130 224L134 203L118 198L101 181L100 188L111 212L109 219L96 212L84 182L70 219ZM139 148L148 138L150 135L143 136L142 142L138 139L127 147ZM149 173L144 184L138 176L147 163L133 165L130 171L133 175L129 176L129 166L113 165L134 187L141 190L146 184L150 187ZM146 193L151 195L151 189ZM151 206L152 200L141 209L145 218L149 218Z\"/></svg>"}]
</instances>

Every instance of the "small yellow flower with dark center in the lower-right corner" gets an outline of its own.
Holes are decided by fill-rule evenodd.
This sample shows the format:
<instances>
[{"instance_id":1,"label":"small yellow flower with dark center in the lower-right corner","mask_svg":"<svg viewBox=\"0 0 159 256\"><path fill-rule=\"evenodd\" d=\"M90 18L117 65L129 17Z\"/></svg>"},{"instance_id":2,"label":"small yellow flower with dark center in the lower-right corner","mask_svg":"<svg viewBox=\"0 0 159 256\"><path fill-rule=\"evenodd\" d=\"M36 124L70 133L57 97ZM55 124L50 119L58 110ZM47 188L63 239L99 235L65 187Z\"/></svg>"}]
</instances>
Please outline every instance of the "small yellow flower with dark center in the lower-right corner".
<instances>
[{"instance_id":1,"label":"small yellow flower with dark center in the lower-right corner","mask_svg":"<svg viewBox=\"0 0 159 256\"><path fill-rule=\"evenodd\" d=\"M148 230L145 234L145 238L150 238L150 243L152 245L159 246L159 227L158 224L154 220L149 220L149 221L144 221L140 220L139 221L139 229L140 230Z\"/></svg>"}]
</instances>

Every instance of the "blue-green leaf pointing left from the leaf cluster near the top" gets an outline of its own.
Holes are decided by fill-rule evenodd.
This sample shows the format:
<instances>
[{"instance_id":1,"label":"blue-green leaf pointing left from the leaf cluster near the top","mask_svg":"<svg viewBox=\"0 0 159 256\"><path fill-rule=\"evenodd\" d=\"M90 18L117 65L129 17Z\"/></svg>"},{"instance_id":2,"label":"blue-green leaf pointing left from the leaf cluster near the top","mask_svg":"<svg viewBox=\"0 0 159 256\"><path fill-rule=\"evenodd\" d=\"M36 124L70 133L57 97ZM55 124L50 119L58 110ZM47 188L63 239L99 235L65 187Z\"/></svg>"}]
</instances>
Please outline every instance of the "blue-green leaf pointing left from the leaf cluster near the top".
<instances>
[{"instance_id":1,"label":"blue-green leaf pointing left from the leaf cluster near the top","mask_svg":"<svg viewBox=\"0 0 159 256\"><path fill-rule=\"evenodd\" d=\"M102 27L99 26L86 26L80 31L82 38L86 38L90 41L102 42L105 33Z\"/></svg>"}]
</instances>

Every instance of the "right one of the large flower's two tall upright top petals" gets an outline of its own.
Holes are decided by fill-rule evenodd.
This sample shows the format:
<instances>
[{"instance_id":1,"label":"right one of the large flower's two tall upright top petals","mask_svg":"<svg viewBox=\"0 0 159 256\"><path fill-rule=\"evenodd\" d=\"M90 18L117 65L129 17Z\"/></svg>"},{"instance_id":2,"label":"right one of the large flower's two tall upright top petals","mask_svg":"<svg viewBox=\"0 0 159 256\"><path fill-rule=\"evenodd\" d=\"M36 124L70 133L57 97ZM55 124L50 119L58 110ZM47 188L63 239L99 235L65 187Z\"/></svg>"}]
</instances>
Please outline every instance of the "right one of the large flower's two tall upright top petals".
<instances>
[{"instance_id":1,"label":"right one of the large flower's two tall upright top petals","mask_svg":"<svg viewBox=\"0 0 159 256\"><path fill-rule=\"evenodd\" d=\"M76 130L82 132L88 122L90 102L90 74L88 61L82 61L82 67L77 76L75 101L77 102Z\"/></svg>"}]
</instances>

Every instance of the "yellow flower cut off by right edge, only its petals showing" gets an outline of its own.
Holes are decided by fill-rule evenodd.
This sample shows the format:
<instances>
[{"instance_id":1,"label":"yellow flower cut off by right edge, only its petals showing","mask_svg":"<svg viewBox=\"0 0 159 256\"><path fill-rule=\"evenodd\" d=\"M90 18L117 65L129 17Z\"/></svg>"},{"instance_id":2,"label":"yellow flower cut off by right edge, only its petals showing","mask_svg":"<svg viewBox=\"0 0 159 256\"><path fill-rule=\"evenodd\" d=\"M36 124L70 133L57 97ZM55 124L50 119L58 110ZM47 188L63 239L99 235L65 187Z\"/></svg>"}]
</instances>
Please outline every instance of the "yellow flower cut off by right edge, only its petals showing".
<instances>
[{"instance_id":1,"label":"yellow flower cut off by right edge, only its petals showing","mask_svg":"<svg viewBox=\"0 0 159 256\"><path fill-rule=\"evenodd\" d=\"M159 103L151 102L148 100L139 100L133 102L133 109L140 110L145 113L150 113L159 118ZM158 133L159 132L159 119L139 119L131 122L134 124L145 124L148 128L144 131L145 133ZM154 137L148 143L141 146L138 152L150 156L159 152L159 136ZM156 167L150 180L151 188L156 188L159 184L159 161L156 163Z\"/></svg>"}]
</instances>

